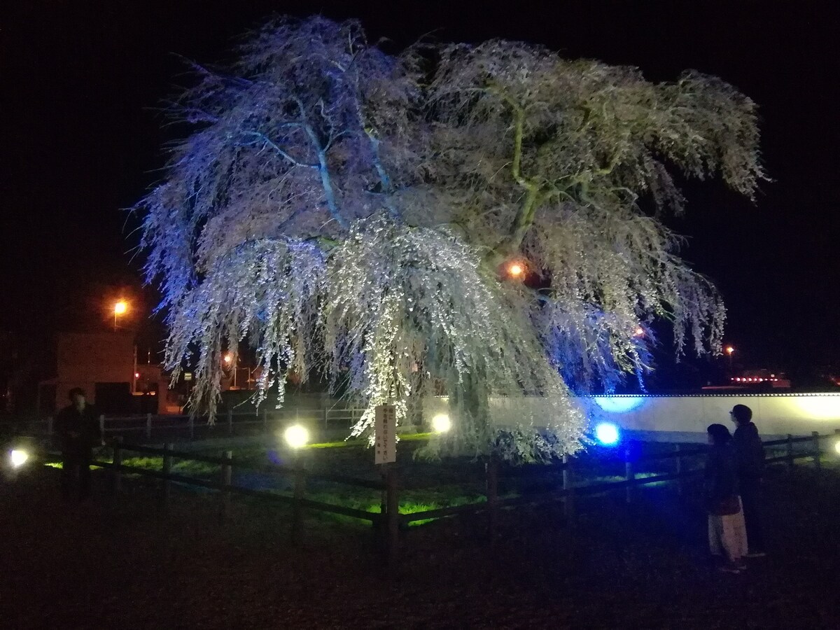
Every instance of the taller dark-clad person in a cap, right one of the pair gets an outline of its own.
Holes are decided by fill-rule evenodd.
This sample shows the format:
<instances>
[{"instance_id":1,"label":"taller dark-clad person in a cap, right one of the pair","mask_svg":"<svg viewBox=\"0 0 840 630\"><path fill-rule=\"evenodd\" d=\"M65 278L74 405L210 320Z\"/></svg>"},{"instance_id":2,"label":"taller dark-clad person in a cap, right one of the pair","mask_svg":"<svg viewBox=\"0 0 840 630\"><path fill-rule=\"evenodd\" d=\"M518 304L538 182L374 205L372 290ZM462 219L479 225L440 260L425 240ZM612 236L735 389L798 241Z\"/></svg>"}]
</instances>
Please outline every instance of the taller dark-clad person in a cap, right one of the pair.
<instances>
[{"instance_id":1,"label":"taller dark-clad person in a cap, right one of the pair","mask_svg":"<svg viewBox=\"0 0 840 630\"><path fill-rule=\"evenodd\" d=\"M747 526L748 557L763 556L764 532L761 526L761 478L764 475L764 447L759 429L753 420L753 410L735 405L729 412L737 425L732 444L738 458L738 486L743 503L743 519Z\"/></svg>"}]
</instances>

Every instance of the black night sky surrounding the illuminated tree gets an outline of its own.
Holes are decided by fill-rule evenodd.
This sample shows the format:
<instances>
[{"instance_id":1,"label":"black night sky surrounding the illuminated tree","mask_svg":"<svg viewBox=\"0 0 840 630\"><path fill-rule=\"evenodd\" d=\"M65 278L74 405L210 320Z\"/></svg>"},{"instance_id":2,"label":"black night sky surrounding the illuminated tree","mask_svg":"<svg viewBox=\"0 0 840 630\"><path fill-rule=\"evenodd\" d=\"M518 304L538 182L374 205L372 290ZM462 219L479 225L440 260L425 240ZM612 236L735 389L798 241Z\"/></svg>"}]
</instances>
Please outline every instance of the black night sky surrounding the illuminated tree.
<instances>
[{"instance_id":1,"label":"black night sky surrounding the illuminated tree","mask_svg":"<svg viewBox=\"0 0 840 630\"><path fill-rule=\"evenodd\" d=\"M668 220L729 308L743 365L840 363L840 12L827 2L285 3L6 0L0 8L0 329L108 325L108 300L136 302L136 226L124 212L155 182L168 136L156 108L188 79L177 55L223 60L270 15L360 18L370 39L407 45L492 37L548 45L672 80L721 76L759 103L773 182L755 205L719 181L691 184ZM551 8L549 8L551 7ZM127 222L128 219L128 222ZM127 322L129 323L129 322ZM134 321L139 325L138 321ZM160 330L144 326L151 338ZM150 331L150 332L149 332Z\"/></svg>"}]
</instances>

